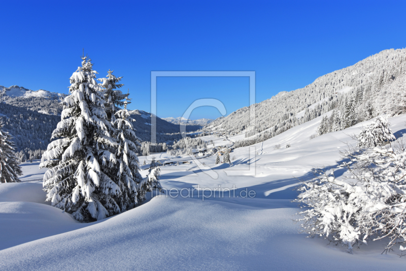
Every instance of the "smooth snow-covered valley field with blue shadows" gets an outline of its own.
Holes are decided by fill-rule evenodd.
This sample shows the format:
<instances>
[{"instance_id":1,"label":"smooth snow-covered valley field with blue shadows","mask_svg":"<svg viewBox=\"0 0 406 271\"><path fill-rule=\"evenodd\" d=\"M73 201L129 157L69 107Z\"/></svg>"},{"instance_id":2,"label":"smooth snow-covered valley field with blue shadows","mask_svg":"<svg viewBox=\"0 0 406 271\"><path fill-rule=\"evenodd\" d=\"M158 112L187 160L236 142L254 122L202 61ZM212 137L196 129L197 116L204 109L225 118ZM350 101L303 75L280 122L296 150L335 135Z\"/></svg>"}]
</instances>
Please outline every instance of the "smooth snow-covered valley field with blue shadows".
<instances>
[{"instance_id":1,"label":"smooth snow-covered valley field with blue shadows","mask_svg":"<svg viewBox=\"0 0 406 271\"><path fill-rule=\"evenodd\" d=\"M232 166L216 165L215 156L155 154L165 162L191 163L161 167L165 195L94 223L79 223L45 202L46 170L38 169L39 161L24 163L21 183L0 185L0 270L403 270L406 259L397 255L398 246L381 255L385 240L349 254L346 247L298 233L293 187L311 178L313 167L336 167L346 142L355 144L350 135L371 123L310 139L320 121L255 149L234 149ZM406 115L389 121L396 138L406 133ZM242 138L202 137L208 147L210 140L230 146ZM140 163L151 158L139 157Z\"/></svg>"}]
</instances>

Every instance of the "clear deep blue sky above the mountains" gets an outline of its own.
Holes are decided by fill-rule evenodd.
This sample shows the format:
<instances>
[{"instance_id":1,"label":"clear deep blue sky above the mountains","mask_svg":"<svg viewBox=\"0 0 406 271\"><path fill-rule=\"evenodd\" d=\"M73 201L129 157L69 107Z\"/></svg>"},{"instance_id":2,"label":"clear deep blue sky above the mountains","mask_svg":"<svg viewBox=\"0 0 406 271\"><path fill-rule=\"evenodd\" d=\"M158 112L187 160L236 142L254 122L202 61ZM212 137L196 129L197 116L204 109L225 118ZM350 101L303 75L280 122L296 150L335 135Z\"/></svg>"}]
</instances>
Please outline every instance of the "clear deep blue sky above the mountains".
<instances>
[{"instance_id":1,"label":"clear deep blue sky above the mountains","mask_svg":"<svg viewBox=\"0 0 406 271\"><path fill-rule=\"evenodd\" d=\"M115 70L130 109L150 111L151 71L255 71L256 102L390 48L406 47L406 1L7 1L0 85L67 93L82 48L99 76ZM249 105L248 78L167 78L157 114L196 99L227 114ZM195 109L192 119L219 117Z\"/></svg>"}]
</instances>

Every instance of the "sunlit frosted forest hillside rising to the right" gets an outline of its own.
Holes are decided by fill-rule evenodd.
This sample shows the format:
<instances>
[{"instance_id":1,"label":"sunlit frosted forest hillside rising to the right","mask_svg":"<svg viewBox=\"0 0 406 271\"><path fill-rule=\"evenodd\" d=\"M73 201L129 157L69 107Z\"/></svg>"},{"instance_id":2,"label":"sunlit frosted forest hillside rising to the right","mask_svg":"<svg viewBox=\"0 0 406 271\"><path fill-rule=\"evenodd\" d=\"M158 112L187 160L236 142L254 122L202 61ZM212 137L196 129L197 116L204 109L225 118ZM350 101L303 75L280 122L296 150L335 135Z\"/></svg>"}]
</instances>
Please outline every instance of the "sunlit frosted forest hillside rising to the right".
<instances>
[{"instance_id":1,"label":"sunlit frosted forest hillside rising to the right","mask_svg":"<svg viewBox=\"0 0 406 271\"><path fill-rule=\"evenodd\" d=\"M353 66L323 75L306 87L281 92L251 105L255 107L255 126L250 126L250 108L244 107L216 119L204 130L244 131L246 137L253 137L250 140L257 142L333 109L341 117L337 129L383 112L400 113L404 111L401 104L406 101L404 88L399 88L404 85L405 72L406 49L384 50ZM386 95L388 92L390 95Z\"/></svg>"}]
</instances>

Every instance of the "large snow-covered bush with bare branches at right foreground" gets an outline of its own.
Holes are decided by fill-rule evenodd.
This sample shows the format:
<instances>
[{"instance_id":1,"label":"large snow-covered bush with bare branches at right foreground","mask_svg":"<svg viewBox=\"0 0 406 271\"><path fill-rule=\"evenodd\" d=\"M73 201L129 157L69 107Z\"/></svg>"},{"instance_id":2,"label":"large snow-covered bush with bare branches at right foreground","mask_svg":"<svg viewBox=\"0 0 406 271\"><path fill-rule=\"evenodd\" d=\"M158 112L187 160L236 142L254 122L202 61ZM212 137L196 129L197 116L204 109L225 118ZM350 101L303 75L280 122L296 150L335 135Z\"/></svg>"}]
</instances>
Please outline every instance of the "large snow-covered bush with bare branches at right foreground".
<instances>
[{"instance_id":1,"label":"large snow-covered bush with bare branches at right foreground","mask_svg":"<svg viewBox=\"0 0 406 271\"><path fill-rule=\"evenodd\" d=\"M375 147L343 153L348 173L337 179L332 170L316 171L317 178L299 188L295 200L306 208L298 219L309 237L325 236L348 246L388 238L389 250L406 240L406 150Z\"/></svg>"}]
</instances>

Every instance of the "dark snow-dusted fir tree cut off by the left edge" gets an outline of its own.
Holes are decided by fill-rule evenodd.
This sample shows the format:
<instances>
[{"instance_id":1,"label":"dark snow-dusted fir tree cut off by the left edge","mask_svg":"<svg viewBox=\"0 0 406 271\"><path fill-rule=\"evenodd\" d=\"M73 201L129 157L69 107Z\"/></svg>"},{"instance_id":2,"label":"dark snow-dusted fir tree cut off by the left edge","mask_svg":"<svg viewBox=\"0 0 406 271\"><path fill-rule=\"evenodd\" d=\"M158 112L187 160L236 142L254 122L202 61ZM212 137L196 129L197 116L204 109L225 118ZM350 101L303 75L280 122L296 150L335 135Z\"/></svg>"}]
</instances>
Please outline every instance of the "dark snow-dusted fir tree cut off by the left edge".
<instances>
[{"instance_id":1,"label":"dark snow-dusted fir tree cut off by the left edge","mask_svg":"<svg viewBox=\"0 0 406 271\"><path fill-rule=\"evenodd\" d=\"M14 142L3 126L3 121L0 121L0 183L18 183L21 168L14 152Z\"/></svg>"}]
</instances>

